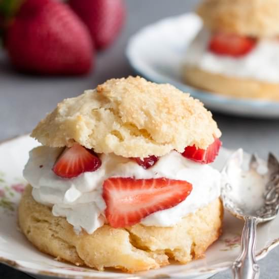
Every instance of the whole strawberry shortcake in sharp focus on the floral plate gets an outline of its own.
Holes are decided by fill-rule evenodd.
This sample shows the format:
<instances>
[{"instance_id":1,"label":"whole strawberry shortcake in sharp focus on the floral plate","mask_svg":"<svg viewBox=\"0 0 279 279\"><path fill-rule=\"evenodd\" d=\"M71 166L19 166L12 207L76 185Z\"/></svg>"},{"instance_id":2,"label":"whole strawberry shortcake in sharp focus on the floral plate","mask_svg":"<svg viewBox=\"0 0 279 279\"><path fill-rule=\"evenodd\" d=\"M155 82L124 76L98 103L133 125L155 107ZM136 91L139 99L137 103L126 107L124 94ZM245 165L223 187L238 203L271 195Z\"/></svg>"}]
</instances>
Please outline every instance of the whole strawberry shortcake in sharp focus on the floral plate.
<instances>
[{"instance_id":1,"label":"whole strawberry shortcake in sharp focus on the floral plate","mask_svg":"<svg viewBox=\"0 0 279 279\"><path fill-rule=\"evenodd\" d=\"M220 130L169 84L111 79L65 99L31 136L19 225L39 250L128 272L187 263L221 233Z\"/></svg>"}]
</instances>

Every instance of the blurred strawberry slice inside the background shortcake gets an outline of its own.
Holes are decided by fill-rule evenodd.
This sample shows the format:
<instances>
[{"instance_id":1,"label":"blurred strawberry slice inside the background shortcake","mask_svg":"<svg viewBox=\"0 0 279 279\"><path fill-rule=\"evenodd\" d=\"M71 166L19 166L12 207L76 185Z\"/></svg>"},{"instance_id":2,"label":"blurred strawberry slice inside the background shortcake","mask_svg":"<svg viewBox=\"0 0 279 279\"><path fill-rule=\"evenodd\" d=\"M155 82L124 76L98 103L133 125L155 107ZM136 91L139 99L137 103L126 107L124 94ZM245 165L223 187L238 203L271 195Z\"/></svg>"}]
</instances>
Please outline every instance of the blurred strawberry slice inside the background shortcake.
<instances>
[{"instance_id":1,"label":"blurred strawberry slice inside the background shortcake","mask_svg":"<svg viewBox=\"0 0 279 279\"><path fill-rule=\"evenodd\" d=\"M212 36L208 48L220 55L234 57L249 53L256 45L256 40L236 34L216 33Z\"/></svg>"}]
</instances>

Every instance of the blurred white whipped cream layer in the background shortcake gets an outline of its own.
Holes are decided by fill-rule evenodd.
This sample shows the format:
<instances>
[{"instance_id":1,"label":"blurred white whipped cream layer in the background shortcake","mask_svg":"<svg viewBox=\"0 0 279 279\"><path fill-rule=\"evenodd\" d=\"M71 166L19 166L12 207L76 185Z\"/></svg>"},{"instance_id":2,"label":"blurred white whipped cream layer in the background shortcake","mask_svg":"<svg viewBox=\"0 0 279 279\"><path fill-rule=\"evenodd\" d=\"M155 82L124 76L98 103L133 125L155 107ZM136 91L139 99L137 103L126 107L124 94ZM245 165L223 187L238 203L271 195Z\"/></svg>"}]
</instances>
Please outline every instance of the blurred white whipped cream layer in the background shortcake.
<instances>
[{"instance_id":1,"label":"blurred white whipped cream layer in the background shortcake","mask_svg":"<svg viewBox=\"0 0 279 279\"><path fill-rule=\"evenodd\" d=\"M217 55L207 49L211 33L201 29L188 46L185 63L229 77L279 83L279 40L259 39L251 52L240 57Z\"/></svg>"}]
</instances>

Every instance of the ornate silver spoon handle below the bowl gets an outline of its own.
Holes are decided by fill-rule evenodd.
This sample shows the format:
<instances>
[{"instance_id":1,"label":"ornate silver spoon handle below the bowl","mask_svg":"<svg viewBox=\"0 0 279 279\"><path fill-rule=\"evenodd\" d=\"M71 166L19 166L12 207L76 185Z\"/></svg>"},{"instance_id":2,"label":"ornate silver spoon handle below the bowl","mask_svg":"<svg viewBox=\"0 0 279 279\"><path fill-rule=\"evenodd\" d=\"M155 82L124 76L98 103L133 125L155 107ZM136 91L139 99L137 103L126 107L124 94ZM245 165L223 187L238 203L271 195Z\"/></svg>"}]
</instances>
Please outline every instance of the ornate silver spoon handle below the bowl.
<instances>
[{"instance_id":1,"label":"ornate silver spoon handle below the bowl","mask_svg":"<svg viewBox=\"0 0 279 279\"><path fill-rule=\"evenodd\" d=\"M257 219L245 216L244 220L241 252L232 265L233 277L234 279L258 279L260 267L255 258Z\"/></svg>"}]
</instances>

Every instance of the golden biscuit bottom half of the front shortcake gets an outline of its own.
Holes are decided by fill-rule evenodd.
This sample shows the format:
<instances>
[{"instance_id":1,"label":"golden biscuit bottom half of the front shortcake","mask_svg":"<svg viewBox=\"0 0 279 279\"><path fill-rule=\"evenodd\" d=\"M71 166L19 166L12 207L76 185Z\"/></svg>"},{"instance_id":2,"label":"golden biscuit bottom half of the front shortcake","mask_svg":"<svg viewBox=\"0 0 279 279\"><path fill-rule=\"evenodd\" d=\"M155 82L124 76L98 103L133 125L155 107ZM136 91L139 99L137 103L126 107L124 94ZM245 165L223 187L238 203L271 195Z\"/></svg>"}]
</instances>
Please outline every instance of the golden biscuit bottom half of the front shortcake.
<instances>
[{"instance_id":1,"label":"golden biscuit bottom half of the front shortcake","mask_svg":"<svg viewBox=\"0 0 279 279\"><path fill-rule=\"evenodd\" d=\"M28 185L19 204L19 225L40 251L76 265L103 270L114 267L136 272L159 268L169 259L187 263L203 257L221 234L223 206L216 199L189 214L175 227L136 224L115 229L103 225L94 233L77 235L65 218L52 215L51 208L36 202Z\"/></svg>"}]
</instances>

